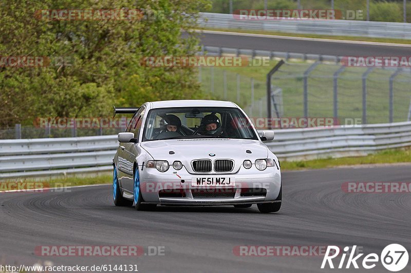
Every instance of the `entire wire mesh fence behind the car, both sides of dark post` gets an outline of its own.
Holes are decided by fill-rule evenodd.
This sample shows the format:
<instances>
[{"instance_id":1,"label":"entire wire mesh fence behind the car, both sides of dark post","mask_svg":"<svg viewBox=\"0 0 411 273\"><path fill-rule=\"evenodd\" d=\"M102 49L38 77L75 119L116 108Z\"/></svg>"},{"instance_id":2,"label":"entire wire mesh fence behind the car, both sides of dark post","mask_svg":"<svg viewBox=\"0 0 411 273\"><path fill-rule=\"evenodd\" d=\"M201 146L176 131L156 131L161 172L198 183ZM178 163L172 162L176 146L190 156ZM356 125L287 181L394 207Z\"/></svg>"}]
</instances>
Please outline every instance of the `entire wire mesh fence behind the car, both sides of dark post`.
<instances>
[{"instance_id":1,"label":"entire wire mesh fence behind the car, both sides of dark post","mask_svg":"<svg viewBox=\"0 0 411 273\"><path fill-rule=\"evenodd\" d=\"M246 70L247 68L244 68ZM261 74L267 73L266 68ZM204 92L231 100L250 117L267 117L266 82L223 68L201 68ZM409 68L358 68L321 61L287 61L272 77L273 117L330 117L357 123L409 121Z\"/></svg>"}]
</instances>

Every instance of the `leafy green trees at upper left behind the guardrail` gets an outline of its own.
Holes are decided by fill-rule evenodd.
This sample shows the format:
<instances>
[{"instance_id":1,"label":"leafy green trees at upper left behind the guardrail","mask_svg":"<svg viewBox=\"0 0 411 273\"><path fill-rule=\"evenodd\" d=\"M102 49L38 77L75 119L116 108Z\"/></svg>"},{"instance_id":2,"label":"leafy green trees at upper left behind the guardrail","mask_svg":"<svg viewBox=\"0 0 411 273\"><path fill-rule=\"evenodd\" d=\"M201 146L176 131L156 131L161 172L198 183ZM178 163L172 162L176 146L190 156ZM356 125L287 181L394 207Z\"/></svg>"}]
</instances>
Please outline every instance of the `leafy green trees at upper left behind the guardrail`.
<instances>
[{"instance_id":1,"label":"leafy green trees at upper left behind the guardrail","mask_svg":"<svg viewBox=\"0 0 411 273\"><path fill-rule=\"evenodd\" d=\"M17 68L0 62L0 126L36 117L108 116L114 103L202 97L193 68L144 67L140 60L195 54L198 39L191 29L198 10L208 5L207 0L1 2L0 56L45 56L50 64ZM73 8L139 9L139 16L52 20L44 11ZM184 39L182 32L188 33Z\"/></svg>"}]
</instances>

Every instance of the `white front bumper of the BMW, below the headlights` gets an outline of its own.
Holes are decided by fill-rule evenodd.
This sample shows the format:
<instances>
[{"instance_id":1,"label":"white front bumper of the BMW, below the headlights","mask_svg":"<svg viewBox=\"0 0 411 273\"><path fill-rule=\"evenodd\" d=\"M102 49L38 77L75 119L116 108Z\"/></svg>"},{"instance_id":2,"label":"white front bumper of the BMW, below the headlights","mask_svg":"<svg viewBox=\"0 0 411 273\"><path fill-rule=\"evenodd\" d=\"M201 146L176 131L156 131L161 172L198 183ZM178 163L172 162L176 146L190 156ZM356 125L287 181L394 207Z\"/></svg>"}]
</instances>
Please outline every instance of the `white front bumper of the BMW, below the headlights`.
<instances>
[{"instance_id":1,"label":"white front bumper of the BMW, below the headlights","mask_svg":"<svg viewBox=\"0 0 411 273\"><path fill-rule=\"evenodd\" d=\"M174 173L173 173L174 172ZM233 177L234 186L192 186L192 177ZM241 168L235 174L190 174L184 168L160 173L140 171L140 188L145 203L161 205L234 205L276 201L281 189L281 172L276 167L264 171ZM281 201L276 201L281 202Z\"/></svg>"}]
</instances>

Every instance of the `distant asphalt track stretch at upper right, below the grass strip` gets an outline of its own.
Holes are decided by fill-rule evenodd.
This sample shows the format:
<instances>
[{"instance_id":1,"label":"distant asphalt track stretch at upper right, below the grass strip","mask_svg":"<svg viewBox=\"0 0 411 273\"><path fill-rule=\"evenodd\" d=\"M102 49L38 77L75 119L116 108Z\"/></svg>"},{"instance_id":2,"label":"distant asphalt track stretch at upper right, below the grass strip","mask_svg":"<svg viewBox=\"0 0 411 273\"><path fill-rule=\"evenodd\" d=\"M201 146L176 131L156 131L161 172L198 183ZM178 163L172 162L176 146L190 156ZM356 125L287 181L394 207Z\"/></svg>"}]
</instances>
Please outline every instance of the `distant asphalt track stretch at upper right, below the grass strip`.
<instances>
[{"instance_id":1,"label":"distant asphalt track stretch at upper right, below the grass strip","mask_svg":"<svg viewBox=\"0 0 411 273\"><path fill-rule=\"evenodd\" d=\"M323 54L335 56L409 56L411 45L388 46L338 41L306 40L298 38L253 37L243 34L201 33L204 46L272 50L292 53Z\"/></svg>"}]
</instances>

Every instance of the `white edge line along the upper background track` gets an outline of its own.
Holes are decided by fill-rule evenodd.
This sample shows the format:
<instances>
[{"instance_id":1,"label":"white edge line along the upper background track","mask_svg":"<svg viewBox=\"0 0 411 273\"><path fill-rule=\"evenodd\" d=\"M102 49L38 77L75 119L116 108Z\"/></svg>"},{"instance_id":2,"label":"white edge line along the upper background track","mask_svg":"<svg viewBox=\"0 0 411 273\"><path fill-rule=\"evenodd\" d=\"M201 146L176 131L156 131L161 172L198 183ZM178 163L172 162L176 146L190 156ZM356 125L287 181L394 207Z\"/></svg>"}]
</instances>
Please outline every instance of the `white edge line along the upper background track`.
<instances>
[{"instance_id":1,"label":"white edge line along the upper background track","mask_svg":"<svg viewBox=\"0 0 411 273\"><path fill-rule=\"evenodd\" d=\"M339 44L357 44L357 45L370 45L370 46L411 48L411 45L407 45L407 44L380 43L377 41L336 40L336 39L324 39L324 38L307 38L307 37L280 36L280 35L257 34L257 33L241 33L241 32L231 32L231 31L200 30L200 29L194 29L194 31L197 33L207 33L207 34L222 34L222 35L235 35L235 36L248 36L248 37L261 37L261 38L276 38L276 39L286 39L286 40L324 41L327 43L339 43Z\"/></svg>"}]
</instances>

